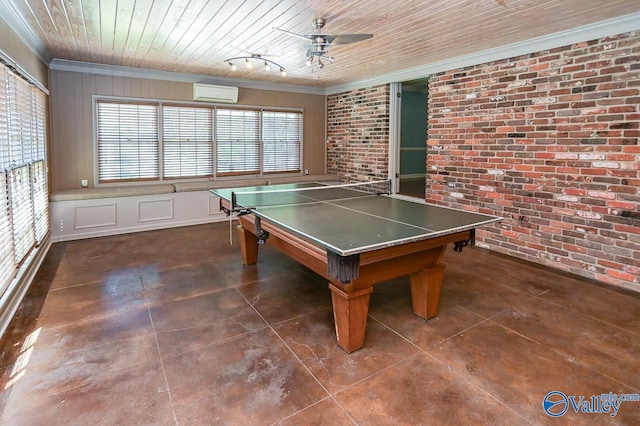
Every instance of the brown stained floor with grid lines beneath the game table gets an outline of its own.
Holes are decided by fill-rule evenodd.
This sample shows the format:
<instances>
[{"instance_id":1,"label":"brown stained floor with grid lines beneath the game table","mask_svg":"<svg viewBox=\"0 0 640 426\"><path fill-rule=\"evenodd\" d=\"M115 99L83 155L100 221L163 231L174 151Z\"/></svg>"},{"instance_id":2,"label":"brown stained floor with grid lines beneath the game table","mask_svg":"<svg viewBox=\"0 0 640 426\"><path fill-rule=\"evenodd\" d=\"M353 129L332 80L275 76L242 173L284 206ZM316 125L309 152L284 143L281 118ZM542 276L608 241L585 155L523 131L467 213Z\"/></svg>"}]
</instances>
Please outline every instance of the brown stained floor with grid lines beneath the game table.
<instances>
[{"instance_id":1,"label":"brown stained floor with grid lines beneath the game table","mask_svg":"<svg viewBox=\"0 0 640 426\"><path fill-rule=\"evenodd\" d=\"M479 248L449 250L440 315L376 285L365 348L327 283L229 224L58 243L2 339L3 425L640 424L549 417L550 391L640 392L640 297Z\"/></svg>"}]
</instances>

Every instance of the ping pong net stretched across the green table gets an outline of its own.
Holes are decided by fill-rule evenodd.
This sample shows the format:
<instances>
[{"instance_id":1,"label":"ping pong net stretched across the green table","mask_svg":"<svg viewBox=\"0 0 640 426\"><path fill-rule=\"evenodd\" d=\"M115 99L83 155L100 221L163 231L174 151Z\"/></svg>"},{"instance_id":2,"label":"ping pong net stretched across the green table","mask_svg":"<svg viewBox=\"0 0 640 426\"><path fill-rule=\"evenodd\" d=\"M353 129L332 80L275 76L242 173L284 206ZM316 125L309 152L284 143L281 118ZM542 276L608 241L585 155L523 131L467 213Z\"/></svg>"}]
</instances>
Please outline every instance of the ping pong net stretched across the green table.
<instances>
[{"instance_id":1,"label":"ping pong net stretched across the green table","mask_svg":"<svg viewBox=\"0 0 640 426\"><path fill-rule=\"evenodd\" d=\"M287 185L283 185L287 186ZM248 213L252 209L269 206L331 202L349 198L390 194L391 180L322 185L297 184L293 187L237 190L231 192L231 212Z\"/></svg>"}]
</instances>

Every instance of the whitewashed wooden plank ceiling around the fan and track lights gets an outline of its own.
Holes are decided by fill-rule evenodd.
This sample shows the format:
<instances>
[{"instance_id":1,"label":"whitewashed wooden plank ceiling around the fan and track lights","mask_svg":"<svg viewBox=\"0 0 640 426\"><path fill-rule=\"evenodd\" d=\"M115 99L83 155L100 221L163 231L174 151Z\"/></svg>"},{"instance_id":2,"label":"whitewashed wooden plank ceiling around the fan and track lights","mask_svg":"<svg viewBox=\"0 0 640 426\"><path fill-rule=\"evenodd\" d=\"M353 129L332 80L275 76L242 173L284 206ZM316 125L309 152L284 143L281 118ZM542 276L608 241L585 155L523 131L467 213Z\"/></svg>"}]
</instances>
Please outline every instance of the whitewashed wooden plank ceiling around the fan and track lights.
<instances>
[{"instance_id":1,"label":"whitewashed wooden plank ceiling around the fan and track lights","mask_svg":"<svg viewBox=\"0 0 640 426\"><path fill-rule=\"evenodd\" d=\"M640 10L638 0L2 0L53 58L331 87L496 48ZM308 43L275 30L371 33L334 45L333 64L305 65ZM282 65L232 71L256 53ZM239 64L242 65L242 64ZM259 65L259 64L256 64Z\"/></svg>"}]
</instances>

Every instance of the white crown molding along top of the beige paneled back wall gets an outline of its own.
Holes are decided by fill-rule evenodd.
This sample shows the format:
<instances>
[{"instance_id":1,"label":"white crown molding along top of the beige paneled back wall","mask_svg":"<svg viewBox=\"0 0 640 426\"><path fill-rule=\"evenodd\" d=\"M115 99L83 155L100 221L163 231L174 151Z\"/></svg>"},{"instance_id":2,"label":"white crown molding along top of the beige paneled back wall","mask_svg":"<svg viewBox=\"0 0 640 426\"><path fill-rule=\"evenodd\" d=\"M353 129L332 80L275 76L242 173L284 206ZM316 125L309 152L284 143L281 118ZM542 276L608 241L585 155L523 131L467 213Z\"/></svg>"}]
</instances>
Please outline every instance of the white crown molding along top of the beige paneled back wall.
<instances>
[{"instance_id":1,"label":"white crown molding along top of the beige paneled back wall","mask_svg":"<svg viewBox=\"0 0 640 426\"><path fill-rule=\"evenodd\" d=\"M49 69L56 71L82 72L87 74L110 75L119 77L146 78L151 80L178 81L183 83L219 84L223 86L235 86L246 89L275 90L279 92L306 93L312 95L325 94L325 89L318 87L238 80L232 78L212 77L210 75L187 74L171 71L152 70L146 68L97 64L93 62L70 61L67 59L53 59L49 64Z\"/></svg>"}]
</instances>

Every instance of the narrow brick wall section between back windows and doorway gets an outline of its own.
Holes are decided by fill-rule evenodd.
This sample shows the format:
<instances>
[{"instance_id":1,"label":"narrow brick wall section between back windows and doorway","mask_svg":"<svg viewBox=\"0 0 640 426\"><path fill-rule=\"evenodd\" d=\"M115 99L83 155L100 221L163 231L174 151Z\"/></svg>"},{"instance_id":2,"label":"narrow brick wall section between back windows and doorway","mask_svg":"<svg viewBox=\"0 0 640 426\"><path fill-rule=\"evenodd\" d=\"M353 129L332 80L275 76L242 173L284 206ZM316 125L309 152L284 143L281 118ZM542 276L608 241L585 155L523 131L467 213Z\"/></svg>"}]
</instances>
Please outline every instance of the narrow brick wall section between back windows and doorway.
<instances>
[{"instance_id":1,"label":"narrow brick wall section between back windows and doorway","mask_svg":"<svg viewBox=\"0 0 640 426\"><path fill-rule=\"evenodd\" d=\"M327 96L327 173L381 180L389 166L389 86Z\"/></svg>"}]
</instances>

